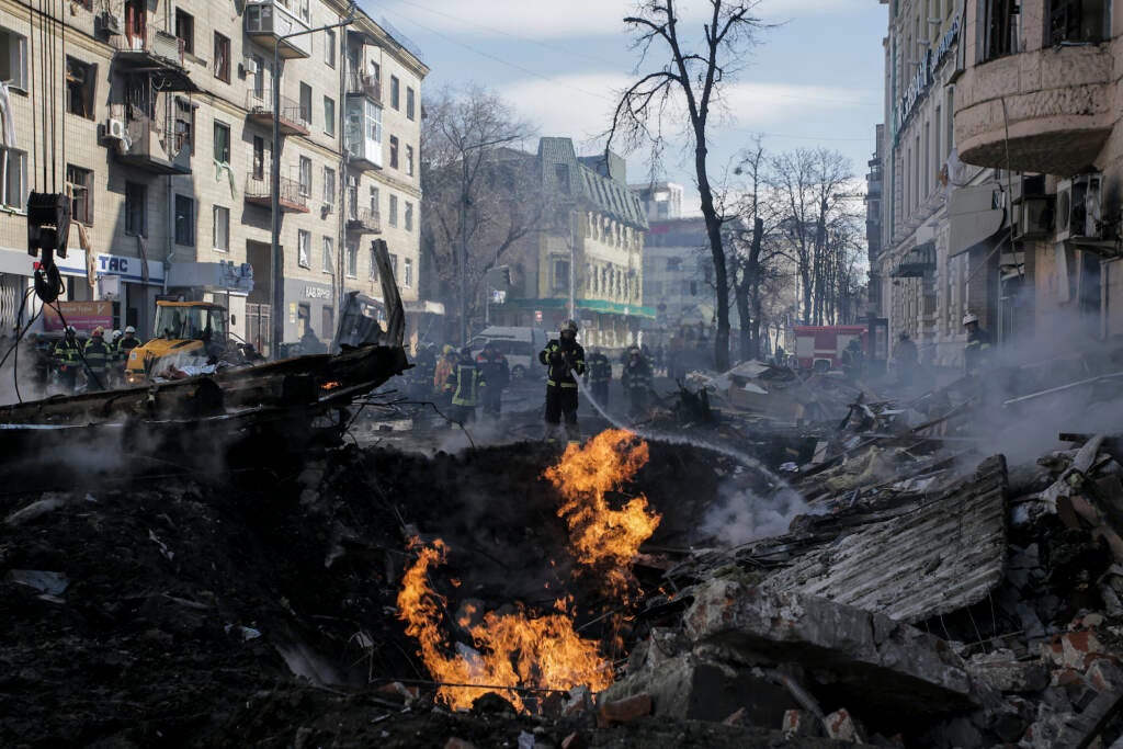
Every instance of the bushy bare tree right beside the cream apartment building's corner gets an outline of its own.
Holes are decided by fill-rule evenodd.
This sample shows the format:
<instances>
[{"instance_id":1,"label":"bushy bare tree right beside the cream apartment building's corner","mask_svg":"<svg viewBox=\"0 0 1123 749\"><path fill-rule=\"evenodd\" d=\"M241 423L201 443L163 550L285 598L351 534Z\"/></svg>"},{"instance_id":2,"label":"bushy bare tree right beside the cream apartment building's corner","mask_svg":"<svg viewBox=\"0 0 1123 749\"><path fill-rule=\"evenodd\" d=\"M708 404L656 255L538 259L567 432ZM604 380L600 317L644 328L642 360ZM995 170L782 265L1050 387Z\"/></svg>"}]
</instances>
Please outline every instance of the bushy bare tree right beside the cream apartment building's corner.
<instances>
[{"instance_id":1,"label":"bushy bare tree right beside the cream apartment building's corner","mask_svg":"<svg viewBox=\"0 0 1123 749\"><path fill-rule=\"evenodd\" d=\"M436 295L456 301L467 338L486 274L541 223L541 181L529 154L513 150L532 134L497 94L445 88L426 103L421 129L422 241L439 280ZM450 305L451 307L451 305Z\"/></svg>"}]
</instances>

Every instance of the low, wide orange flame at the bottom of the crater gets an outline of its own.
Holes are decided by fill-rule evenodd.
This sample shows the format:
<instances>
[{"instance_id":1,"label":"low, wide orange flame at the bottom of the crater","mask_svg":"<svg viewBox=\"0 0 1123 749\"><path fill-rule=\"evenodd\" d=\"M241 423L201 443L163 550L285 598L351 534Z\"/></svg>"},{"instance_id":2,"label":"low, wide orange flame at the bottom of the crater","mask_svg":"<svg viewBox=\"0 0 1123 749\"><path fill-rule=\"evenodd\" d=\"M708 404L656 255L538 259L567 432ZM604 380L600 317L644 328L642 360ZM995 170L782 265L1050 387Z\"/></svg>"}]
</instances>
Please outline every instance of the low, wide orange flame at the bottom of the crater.
<instances>
[{"instance_id":1,"label":"low, wide orange flame at the bottom of the crater","mask_svg":"<svg viewBox=\"0 0 1123 749\"><path fill-rule=\"evenodd\" d=\"M584 684L594 692L612 684L612 668L597 652L597 643L582 639L573 628L569 602L559 600L554 613L532 618L521 606L514 613L484 613L471 624L476 613L466 606L458 622L467 629L474 652L453 655L441 634L441 611L446 600L428 582L431 567L445 560L448 547L439 539L426 547L411 541L418 559L405 570L398 594L399 616L408 622L405 633L418 639L419 655L433 679L445 684L438 698L449 707L467 709L477 697L500 687L569 689ZM505 695L518 710L526 705L515 691Z\"/></svg>"}]
</instances>

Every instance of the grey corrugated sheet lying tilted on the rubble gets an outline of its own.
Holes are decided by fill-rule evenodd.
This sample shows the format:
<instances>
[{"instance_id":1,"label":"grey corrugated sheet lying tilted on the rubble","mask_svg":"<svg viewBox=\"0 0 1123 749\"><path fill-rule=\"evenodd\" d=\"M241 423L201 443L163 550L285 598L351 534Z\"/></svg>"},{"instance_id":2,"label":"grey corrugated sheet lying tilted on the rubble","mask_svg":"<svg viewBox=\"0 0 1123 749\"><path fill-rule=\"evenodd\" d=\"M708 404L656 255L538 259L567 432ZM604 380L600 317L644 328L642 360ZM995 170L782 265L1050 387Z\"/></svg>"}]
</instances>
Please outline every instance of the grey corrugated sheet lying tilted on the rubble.
<instances>
[{"instance_id":1,"label":"grey corrugated sheet lying tilted on the rubble","mask_svg":"<svg viewBox=\"0 0 1123 749\"><path fill-rule=\"evenodd\" d=\"M1006 462L916 510L800 557L765 582L915 623L982 601L1006 563Z\"/></svg>"}]
</instances>

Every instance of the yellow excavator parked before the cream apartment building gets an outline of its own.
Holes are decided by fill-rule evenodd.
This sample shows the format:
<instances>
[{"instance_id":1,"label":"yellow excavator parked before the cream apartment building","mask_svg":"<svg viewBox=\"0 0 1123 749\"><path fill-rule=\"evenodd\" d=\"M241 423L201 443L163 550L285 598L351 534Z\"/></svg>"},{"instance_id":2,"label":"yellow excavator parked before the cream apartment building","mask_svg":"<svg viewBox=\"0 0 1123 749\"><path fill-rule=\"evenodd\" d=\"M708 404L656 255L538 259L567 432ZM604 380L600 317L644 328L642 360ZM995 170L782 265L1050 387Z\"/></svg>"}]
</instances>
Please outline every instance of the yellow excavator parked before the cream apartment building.
<instances>
[{"instance_id":1,"label":"yellow excavator parked before the cream apartment building","mask_svg":"<svg viewBox=\"0 0 1123 749\"><path fill-rule=\"evenodd\" d=\"M125 382L143 385L171 366L204 364L226 350L227 312L213 302L156 302L154 338L129 351Z\"/></svg>"}]
</instances>

